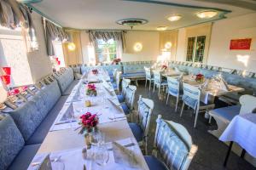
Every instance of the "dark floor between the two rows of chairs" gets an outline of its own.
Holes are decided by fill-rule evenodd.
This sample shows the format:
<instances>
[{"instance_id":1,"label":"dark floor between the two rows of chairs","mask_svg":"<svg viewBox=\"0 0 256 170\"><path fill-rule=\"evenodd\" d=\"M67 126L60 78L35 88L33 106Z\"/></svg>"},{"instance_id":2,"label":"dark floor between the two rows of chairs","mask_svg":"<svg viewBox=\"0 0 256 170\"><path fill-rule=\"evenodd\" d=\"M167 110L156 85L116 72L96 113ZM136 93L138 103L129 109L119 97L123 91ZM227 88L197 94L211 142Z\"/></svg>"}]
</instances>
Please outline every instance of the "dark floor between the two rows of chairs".
<instances>
[{"instance_id":1,"label":"dark floor between the two rows of chairs","mask_svg":"<svg viewBox=\"0 0 256 170\"><path fill-rule=\"evenodd\" d=\"M184 127L186 127L192 136L193 143L198 145L198 151L194 160L190 164L189 170L256 170L256 167L253 167L250 163L244 161L234 153L230 154L230 160L227 167L223 167L224 156L226 155L228 146L207 132L208 129L216 128L216 123L212 121L211 125L208 124L207 119L204 118L203 114L199 116L197 127L194 128L193 125L195 115L193 114L193 111L185 110L183 112L183 116L180 117L179 113L181 105L179 105L176 113L174 111L176 102L174 98L169 98L171 105L166 105L165 95L162 94L159 96L157 90L154 93L152 90L149 92L148 88L144 88L144 82L139 82L136 94L136 108L139 94L142 94L144 98L154 100L154 116L150 122L148 154L151 154L154 143L154 130L156 125L155 119L157 115L161 114L164 119L181 123Z\"/></svg>"}]
</instances>

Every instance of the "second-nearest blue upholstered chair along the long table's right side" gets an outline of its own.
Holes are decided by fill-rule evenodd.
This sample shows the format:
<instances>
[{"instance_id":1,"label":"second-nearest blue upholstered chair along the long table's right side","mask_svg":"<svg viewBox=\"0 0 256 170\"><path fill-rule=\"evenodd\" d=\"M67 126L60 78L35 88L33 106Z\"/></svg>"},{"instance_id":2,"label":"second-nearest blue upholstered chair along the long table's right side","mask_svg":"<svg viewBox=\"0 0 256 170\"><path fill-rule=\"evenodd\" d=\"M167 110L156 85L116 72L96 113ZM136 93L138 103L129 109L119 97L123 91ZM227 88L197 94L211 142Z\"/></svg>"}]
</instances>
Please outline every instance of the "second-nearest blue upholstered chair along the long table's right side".
<instances>
[{"instance_id":1,"label":"second-nearest blue upholstered chair along the long table's right side","mask_svg":"<svg viewBox=\"0 0 256 170\"><path fill-rule=\"evenodd\" d=\"M148 154L148 128L154 109L154 101L143 98L142 95L140 95L137 105L137 122L131 122L129 126L137 142L145 147L145 153Z\"/></svg>"}]
</instances>

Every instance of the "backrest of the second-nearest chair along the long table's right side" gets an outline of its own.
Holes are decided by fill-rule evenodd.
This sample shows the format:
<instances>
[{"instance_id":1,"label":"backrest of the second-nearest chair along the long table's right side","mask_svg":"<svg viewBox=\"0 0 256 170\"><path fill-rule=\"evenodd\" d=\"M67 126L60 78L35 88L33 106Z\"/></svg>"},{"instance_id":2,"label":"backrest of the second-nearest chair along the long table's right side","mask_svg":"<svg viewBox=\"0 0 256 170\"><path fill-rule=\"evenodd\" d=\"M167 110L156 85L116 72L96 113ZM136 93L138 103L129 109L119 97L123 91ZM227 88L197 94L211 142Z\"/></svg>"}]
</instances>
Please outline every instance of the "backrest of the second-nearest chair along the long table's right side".
<instances>
[{"instance_id":1,"label":"backrest of the second-nearest chair along the long table's right side","mask_svg":"<svg viewBox=\"0 0 256 170\"><path fill-rule=\"evenodd\" d=\"M144 136L147 136L151 114L154 109L154 101L152 99L143 98L142 95L140 95L137 105L138 123L143 129Z\"/></svg>"}]
</instances>

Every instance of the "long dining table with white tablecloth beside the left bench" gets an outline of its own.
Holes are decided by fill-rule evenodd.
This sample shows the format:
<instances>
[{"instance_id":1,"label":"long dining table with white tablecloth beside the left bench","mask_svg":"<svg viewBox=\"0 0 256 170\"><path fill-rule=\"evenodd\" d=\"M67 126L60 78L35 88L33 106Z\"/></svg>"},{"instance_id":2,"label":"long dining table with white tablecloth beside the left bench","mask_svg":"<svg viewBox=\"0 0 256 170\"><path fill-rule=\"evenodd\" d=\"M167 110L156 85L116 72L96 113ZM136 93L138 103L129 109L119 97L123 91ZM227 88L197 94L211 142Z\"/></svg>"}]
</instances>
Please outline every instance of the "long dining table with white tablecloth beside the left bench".
<instances>
[{"instance_id":1,"label":"long dining table with white tablecloth beside the left bench","mask_svg":"<svg viewBox=\"0 0 256 170\"><path fill-rule=\"evenodd\" d=\"M62 162L65 165L64 169L84 169L85 165L87 167L85 169L87 170L130 169L114 161L113 151L109 151L111 158L105 166L99 166L94 163L94 167L91 167L91 165L87 165L88 162L86 163L86 160L83 160L82 150L85 146L85 139L84 135L79 134L78 122L79 116L84 114L84 112L90 111L99 117L97 128L104 134L105 143L110 144L111 147L113 142L118 142L119 144L132 142L134 145L128 149L134 152L139 162L139 167L132 169L148 169L143 153L131 132L125 113L121 109L117 96L114 93L113 86L108 82L109 79L107 71L104 70L100 71L97 75L91 71L84 74L77 86L73 88L72 93L68 96L65 105L56 117L54 124L50 128L49 133L32 162L37 161L37 156L47 153L55 155L55 153L65 153L65 150L79 150L72 152L73 155L71 156L65 157L65 154L61 156ZM85 94L85 83L89 83L90 80L93 80L91 82L94 82L97 88L97 95L94 97ZM91 106L85 107L84 100L88 99L91 102ZM66 122L65 117L71 111L70 108L73 111L74 120Z\"/></svg>"}]
</instances>

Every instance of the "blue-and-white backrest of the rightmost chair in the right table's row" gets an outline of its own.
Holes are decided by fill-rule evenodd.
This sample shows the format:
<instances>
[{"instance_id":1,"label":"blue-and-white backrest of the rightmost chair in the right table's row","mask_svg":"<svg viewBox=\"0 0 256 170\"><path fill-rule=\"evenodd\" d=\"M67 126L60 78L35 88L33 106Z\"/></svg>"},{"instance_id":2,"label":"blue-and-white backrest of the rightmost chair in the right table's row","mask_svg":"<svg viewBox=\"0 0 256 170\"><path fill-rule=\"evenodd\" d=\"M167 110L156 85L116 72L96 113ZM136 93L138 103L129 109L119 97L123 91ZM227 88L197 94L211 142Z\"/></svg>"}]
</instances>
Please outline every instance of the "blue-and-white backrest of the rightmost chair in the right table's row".
<instances>
[{"instance_id":1,"label":"blue-and-white backrest of the rightmost chair in the right table's row","mask_svg":"<svg viewBox=\"0 0 256 170\"><path fill-rule=\"evenodd\" d=\"M183 83L183 101L194 110L199 108L201 90L198 87Z\"/></svg>"}]
</instances>

